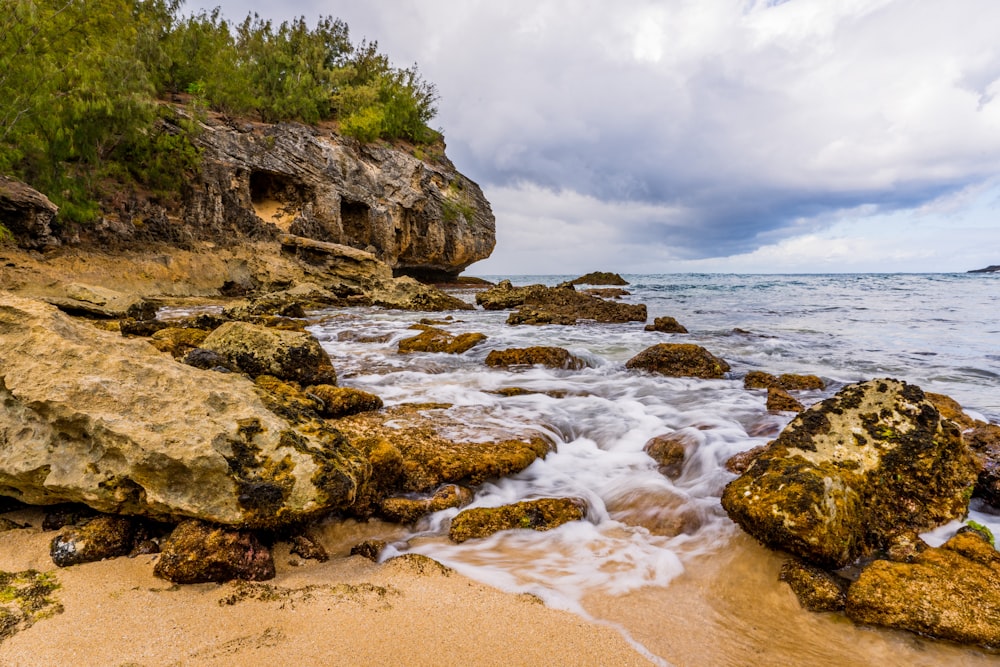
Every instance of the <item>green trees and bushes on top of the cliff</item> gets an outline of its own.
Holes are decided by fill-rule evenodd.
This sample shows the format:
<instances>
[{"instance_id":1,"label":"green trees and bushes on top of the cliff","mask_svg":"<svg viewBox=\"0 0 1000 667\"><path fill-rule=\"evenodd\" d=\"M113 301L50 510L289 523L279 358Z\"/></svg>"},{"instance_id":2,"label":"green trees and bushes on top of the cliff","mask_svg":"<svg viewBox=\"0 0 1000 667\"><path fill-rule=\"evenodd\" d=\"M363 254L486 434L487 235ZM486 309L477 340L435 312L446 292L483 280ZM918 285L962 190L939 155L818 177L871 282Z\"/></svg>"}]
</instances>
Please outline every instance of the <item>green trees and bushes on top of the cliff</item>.
<instances>
[{"instance_id":1,"label":"green trees and bushes on top of the cliff","mask_svg":"<svg viewBox=\"0 0 1000 667\"><path fill-rule=\"evenodd\" d=\"M87 223L100 201L142 188L170 203L197 169L206 111L264 122L338 121L365 142L431 143L437 92L375 42L325 17L233 24L181 0L4 0L0 174ZM189 102L187 119L162 100ZM0 237L4 234L0 226Z\"/></svg>"}]
</instances>

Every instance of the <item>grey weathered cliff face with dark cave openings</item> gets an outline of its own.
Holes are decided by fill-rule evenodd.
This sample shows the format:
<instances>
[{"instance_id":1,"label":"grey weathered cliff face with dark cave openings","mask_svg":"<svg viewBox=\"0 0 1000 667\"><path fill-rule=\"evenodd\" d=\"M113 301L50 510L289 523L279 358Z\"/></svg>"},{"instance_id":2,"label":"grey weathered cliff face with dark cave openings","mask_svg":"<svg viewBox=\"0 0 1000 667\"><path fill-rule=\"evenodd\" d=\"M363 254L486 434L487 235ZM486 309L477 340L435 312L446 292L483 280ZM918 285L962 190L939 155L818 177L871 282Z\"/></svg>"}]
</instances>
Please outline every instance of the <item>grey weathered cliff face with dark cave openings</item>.
<instances>
[{"instance_id":1,"label":"grey weathered cliff face with dark cave openings","mask_svg":"<svg viewBox=\"0 0 1000 667\"><path fill-rule=\"evenodd\" d=\"M186 227L340 243L421 279L456 276L493 251L489 202L447 158L423 161L298 124L204 125Z\"/></svg>"}]
</instances>

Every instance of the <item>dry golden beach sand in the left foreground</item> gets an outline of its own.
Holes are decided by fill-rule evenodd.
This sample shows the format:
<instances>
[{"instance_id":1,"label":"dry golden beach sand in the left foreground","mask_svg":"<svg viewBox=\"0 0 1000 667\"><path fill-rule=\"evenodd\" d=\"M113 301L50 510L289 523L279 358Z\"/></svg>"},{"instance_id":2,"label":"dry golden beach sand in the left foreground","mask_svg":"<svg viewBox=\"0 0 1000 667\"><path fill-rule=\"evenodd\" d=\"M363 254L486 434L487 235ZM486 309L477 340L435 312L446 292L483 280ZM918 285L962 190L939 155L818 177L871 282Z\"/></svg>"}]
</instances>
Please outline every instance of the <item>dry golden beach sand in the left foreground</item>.
<instances>
[{"instance_id":1,"label":"dry golden beach sand in the left foreground","mask_svg":"<svg viewBox=\"0 0 1000 667\"><path fill-rule=\"evenodd\" d=\"M0 665L648 665L614 630L422 557L305 561L265 583L176 586L156 556L56 568L55 531L0 533L0 570L54 571L63 612L0 643Z\"/></svg>"}]
</instances>

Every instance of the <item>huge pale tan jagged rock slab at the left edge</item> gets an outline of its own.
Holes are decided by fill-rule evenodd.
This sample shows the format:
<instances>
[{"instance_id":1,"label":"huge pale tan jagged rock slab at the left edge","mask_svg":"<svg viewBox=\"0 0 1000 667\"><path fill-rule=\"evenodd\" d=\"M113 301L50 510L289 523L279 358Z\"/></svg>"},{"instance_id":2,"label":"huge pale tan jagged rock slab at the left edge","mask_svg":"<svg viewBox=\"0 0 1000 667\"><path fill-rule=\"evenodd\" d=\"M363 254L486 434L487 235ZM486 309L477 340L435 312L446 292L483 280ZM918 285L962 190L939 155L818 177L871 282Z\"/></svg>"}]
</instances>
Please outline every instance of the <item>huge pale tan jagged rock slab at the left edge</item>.
<instances>
[{"instance_id":1,"label":"huge pale tan jagged rock slab at the left edge","mask_svg":"<svg viewBox=\"0 0 1000 667\"><path fill-rule=\"evenodd\" d=\"M0 293L0 492L158 519L276 527L350 505L369 467L241 376L179 364Z\"/></svg>"}]
</instances>

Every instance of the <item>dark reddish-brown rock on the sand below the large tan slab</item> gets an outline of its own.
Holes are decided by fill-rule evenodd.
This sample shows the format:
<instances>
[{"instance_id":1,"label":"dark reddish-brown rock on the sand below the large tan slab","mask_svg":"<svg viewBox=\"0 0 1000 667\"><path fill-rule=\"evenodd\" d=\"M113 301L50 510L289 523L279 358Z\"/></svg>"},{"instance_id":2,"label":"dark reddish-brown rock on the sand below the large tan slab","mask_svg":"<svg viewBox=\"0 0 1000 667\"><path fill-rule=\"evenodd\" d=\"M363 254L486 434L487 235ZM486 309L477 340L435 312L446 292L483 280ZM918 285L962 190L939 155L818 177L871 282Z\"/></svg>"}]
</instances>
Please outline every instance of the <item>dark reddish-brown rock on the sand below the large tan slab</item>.
<instances>
[{"instance_id":1,"label":"dark reddish-brown rock on the sand below the large tan slab","mask_svg":"<svg viewBox=\"0 0 1000 667\"><path fill-rule=\"evenodd\" d=\"M274 578L271 550L249 531L183 521L162 545L153 574L175 584Z\"/></svg>"}]
</instances>

